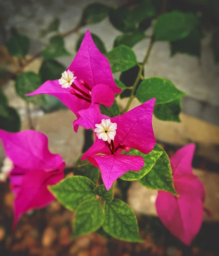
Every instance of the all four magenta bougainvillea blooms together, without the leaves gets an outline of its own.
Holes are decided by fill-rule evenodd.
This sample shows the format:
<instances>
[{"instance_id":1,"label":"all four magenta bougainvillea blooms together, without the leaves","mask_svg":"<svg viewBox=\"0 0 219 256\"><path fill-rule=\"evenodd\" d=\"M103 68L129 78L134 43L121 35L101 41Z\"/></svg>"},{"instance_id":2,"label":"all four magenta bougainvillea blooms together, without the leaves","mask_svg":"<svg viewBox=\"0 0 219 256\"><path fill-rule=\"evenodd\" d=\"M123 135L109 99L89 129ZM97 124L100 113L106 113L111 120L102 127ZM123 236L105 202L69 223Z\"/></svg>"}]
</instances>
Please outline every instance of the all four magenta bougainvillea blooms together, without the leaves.
<instances>
[{"instance_id":1,"label":"all four magenta bougainvillea blooms together, without the leaves","mask_svg":"<svg viewBox=\"0 0 219 256\"><path fill-rule=\"evenodd\" d=\"M28 94L47 93L57 97L75 113L77 119L73 126L76 132L79 125L94 130L95 142L81 160L88 159L101 170L107 190L127 171L139 171L144 166L140 155L122 154L123 150L128 152L135 148L148 154L156 143L152 127L156 99L113 118L101 114L99 105L110 107L115 93L120 92L107 58L99 52L87 31L75 59L61 79L46 81ZM11 134L1 130L0 138L6 156L14 165L9 179L16 195L15 227L22 213L45 207L54 199L47 185L63 179L65 163L60 155L49 151L46 135L38 131ZM161 221L185 244L190 244L200 229L205 198L203 185L192 172L193 151L194 145L187 145L170 158L179 198L160 191L156 201Z\"/></svg>"}]
</instances>

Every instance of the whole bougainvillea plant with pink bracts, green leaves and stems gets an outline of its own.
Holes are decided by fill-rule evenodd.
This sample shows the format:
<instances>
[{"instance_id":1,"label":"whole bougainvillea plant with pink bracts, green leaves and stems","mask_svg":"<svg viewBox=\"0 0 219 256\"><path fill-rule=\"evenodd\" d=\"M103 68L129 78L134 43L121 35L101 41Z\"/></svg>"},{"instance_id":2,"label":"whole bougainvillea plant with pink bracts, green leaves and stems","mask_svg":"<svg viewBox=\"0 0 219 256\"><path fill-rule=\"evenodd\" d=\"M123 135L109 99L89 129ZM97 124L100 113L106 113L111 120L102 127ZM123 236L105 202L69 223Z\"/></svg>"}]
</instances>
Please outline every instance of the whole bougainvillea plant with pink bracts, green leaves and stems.
<instances>
[{"instance_id":1,"label":"whole bougainvillea plant with pink bracts, green leaves and stems","mask_svg":"<svg viewBox=\"0 0 219 256\"><path fill-rule=\"evenodd\" d=\"M191 167L195 146L187 145L169 159L156 143L152 124L153 115L163 121L180 122L185 93L167 79L144 78L144 66L156 41L169 41L172 51L188 52L190 49L183 45L193 33L199 35L199 20L195 14L179 11L161 15L151 1L139 2L132 11L128 7L121 11L98 3L90 5L75 29L50 38L40 53L44 60L39 74L16 73L17 94L27 102L52 109L54 106L48 107L46 101L51 99L48 95L55 96L75 114L75 132L79 125L92 129L95 141L73 167L72 177L64 177L65 163L60 155L49 151L46 135L18 131L19 117L0 91L0 115L4 120L0 138L6 154L0 180L9 178L15 194L14 228L22 214L45 207L56 198L66 209L75 211L73 237L101 229L101 234L116 239L141 242L133 210L114 191L123 182L138 180L142 186L158 190L158 217L173 235L189 245L199 232L205 189ZM54 60L69 55L64 37L107 16L123 32L115 38L111 51L107 52L100 38L86 31L78 40L78 53L68 68ZM152 19L156 19L153 34L146 35L148 20ZM57 20L43 34L51 31L58 31ZM149 47L139 62L131 48L145 38ZM15 41L16 47L12 43ZM22 64L29 49L28 38L14 35L7 48ZM112 76L117 72L121 72L119 80ZM127 98L123 109L118 107L118 97ZM139 104L131 109L134 98Z\"/></svg>"}]
</instances>

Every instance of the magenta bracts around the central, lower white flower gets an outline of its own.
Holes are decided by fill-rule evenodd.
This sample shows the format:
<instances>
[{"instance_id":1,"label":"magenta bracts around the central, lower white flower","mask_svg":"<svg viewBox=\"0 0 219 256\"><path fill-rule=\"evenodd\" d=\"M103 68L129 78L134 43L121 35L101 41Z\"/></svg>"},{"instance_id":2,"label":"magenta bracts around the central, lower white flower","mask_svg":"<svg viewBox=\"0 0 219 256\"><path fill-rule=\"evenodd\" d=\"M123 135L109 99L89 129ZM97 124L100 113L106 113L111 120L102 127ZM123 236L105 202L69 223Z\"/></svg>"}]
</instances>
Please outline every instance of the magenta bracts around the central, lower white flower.
<instances>
[{"instance_id":1,"label":"magenta bracts around the central, lower white flower","mask_svg":"<svg viewBox=\"0 0 219 256\"><path fill-rule=\"evenodd\" d=\"M150 99L127 113L111 118L111 122L117 123L114 139L115 154L112 154L107 144L103 140L99 140L95 134L94 144L81 157L81 160L88 158L92 164L100 168L107 190L125 172L129 170L139 171L144 166L144 160L141 156L121 154L124 146L135 148L144 154L153 150L156 143L152 127L155 101L156 99ZM109 119L108 116L102 115L95 108L79 111L79 114L93 130L95 124L101 123L101 119ZM96 155L99 153L104 155ZM135 164L133 165L133 163Z\"/></svg>"}]
</instances>

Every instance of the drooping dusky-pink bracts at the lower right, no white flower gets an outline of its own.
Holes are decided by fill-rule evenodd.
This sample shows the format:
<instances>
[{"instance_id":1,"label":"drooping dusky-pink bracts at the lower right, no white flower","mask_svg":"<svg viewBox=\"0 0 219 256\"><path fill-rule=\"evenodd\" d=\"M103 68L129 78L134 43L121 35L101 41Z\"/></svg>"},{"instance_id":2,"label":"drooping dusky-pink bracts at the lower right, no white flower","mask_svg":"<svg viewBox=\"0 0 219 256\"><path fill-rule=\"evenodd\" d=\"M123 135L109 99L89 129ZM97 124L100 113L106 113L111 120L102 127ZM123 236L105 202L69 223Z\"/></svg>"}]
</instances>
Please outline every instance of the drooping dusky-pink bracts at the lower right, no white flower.
<instances>
[{"instance_id":1,"label":"drooping dusky-pink bracts at the lower right, no white flower","mask_svg":"<svg viewBox=\"0 0 219 256\"><path fill-rule=\"evenodd\" d=\"M158 217L186 245L190 245L199 232L204 213L205 189L192 170L194 150L195 145L188 144L170 157L173 183L179 198L159 191L156 199Z\"/></svg>"}]
</instances>

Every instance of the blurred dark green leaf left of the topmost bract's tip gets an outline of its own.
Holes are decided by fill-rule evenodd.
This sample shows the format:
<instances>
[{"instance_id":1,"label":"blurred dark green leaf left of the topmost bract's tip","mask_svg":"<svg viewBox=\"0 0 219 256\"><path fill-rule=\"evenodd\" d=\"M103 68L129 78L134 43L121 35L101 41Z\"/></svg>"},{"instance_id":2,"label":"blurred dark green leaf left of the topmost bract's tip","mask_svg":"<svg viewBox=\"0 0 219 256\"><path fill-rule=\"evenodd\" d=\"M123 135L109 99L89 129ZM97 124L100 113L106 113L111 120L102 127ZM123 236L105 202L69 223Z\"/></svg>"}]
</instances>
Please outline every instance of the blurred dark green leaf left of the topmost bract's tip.
<instances>
[{"instance_id":1,"label":"blurred dark green leaf left of the topmost bract's tip","mask_svg":"<svg viewBox=\"0 0 219 256\"><path fill-rule=\"evenodd\" d=\"M71 54L64 47L64 40L61 35L55 35L50 38L49 44L42 52L42 56L45 60L70 55Z\"/></svg>"}]
</instances>

